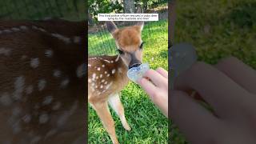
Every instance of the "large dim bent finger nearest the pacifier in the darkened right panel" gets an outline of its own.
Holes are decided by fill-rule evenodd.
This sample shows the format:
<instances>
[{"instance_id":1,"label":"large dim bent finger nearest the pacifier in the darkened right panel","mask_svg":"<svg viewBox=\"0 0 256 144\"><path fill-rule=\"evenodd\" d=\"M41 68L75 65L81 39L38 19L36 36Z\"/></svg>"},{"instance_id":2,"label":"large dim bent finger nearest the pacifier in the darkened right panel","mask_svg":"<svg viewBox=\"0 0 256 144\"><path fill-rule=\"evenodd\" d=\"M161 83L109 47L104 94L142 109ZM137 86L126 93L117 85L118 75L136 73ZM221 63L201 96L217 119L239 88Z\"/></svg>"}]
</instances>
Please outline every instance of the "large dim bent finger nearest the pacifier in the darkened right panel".
<instances>
[{"instance_id":1,"label":"large dim bent finger nearest the pacifier in the darkened right panel","mask_svg":"<svg viewBox=\"0 0 256 144\"><path fill-rule=\"evenodd\" d=\"M175 79L174 89L196 90L221 117L230 117L242 105L241 96L249 94L221 71L203 62L195 63Z\"/></svg>"}]
</instances>

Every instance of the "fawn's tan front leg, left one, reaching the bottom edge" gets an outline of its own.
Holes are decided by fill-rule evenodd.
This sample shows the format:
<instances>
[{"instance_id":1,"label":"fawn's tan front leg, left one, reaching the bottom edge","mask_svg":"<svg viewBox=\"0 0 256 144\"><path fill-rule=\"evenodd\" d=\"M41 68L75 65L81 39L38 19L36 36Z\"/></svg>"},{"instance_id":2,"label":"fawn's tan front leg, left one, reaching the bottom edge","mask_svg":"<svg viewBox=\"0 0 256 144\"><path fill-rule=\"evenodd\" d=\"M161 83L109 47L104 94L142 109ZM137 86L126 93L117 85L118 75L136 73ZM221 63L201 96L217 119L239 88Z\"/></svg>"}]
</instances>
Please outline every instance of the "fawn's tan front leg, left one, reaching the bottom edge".
<instances>
[{"instance_id":1,"label":"fawn's tan front leg, left one, reaching the bottom edge","mask_svg":"<svg viewBox=\"0 0 256 144\"><path fill-rule=\"evenodd\" d=\"M110 138L114 144L118 144L118 139L115 134L115 128L114 128L114 120L110 114L109 107L107 105L107 102L98 102L98 103L92 103L92 106L96 113L98 114L98 117L102 120L102 124L105 127L108 134L110 134Z\"/></svg>"}]
</instances>

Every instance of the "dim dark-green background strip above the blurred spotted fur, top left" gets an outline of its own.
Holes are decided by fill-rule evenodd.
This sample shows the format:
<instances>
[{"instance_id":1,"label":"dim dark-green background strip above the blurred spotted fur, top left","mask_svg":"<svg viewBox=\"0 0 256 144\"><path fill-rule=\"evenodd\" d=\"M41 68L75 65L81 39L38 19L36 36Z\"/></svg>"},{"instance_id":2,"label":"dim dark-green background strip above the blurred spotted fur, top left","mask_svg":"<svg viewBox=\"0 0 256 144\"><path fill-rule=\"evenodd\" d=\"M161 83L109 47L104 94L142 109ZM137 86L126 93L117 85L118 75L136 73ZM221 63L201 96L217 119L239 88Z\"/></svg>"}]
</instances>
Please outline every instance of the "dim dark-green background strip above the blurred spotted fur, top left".
<instances>
[{"instance_id":1,"label":"dim dark-green background strip above the blurred spotted fur, top left","mask_svg":"<svg viewBox=\"0 0 256 144\"><path fill-rule=\"evenodd\" d=\"M84 0L0 0L0 19L81 21L86 18L85 5Z\"/></svg>"}]
</instances>

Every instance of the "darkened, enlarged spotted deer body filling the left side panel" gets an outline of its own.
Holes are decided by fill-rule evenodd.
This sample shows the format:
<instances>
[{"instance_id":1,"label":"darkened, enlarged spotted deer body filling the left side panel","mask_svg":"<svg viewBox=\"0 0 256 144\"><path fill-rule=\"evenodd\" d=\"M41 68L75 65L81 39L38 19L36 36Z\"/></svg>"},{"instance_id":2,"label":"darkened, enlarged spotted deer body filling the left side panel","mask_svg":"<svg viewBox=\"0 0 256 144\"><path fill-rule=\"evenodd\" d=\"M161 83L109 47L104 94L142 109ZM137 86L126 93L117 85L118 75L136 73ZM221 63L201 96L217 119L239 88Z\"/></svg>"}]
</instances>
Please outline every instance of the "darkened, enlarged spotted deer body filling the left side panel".
<instances>
[{"instance_id":1,"label":"darkened, enlarged spotted deer body filling the left side panel","mask_svg":"<svg viewBox=\"0 0 256 144\"><path fill-rule=\"evenodd\" d=\"M0 22L0 143L86 143L86 22Z\"/></svg>"}]
</instances>

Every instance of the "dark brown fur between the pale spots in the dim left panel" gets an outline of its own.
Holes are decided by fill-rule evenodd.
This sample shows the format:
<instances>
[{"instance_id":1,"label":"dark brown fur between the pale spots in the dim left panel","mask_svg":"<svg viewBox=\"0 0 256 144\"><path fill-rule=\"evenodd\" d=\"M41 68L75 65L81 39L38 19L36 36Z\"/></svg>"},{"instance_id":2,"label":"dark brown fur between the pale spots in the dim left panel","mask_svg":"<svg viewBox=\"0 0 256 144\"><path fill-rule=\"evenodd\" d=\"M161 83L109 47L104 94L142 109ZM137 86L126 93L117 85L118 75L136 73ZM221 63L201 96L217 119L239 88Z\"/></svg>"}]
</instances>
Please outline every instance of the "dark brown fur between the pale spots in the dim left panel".
<instances>
[{"instance_id":1,"label":"dark brown fur between the pale spots in the dim left panel","mask_svg":"<svg viewBox=\"0 0 256 144\"><path fill-rule=\"evenodd\" d=\"M25 78L25 87L22 91L22 98L15 100L9 106L3 106L0 103L0 143L30 143L33 138L40 136L38 143L71 143L78 138L84 137L84 95L86 93L85 81L78 78L76 70L79 65L85 62L85 39L84 30L86 22L66 22L62 20L52 20L46 22L0 22L0 30L9 30L13 27L27 26L28 30L12 31L10 34L0 34L0 48L10 48L10 55L0 54L0 97L4 93L13 94L14 81L19 76ZM38 26L47 30L48 33L40 30L34 30L31 26ZM50 33L62 34L68 38L80 36L82 38L79 44L66 44L50 36ZM45 50L53 50L52 58L46 58ZM26 55L26 58L22 56ZM37 68L30 66L30 58L39 58ZM54 78L53 70L59 69L62 75ZM38 80L46 80L46 86L43 90L38 90ZM69 78L70 83L66 88L60 87L60 82L64 78ZM34 86L31 94L26 94L26 87ZM49 105L42 105L43 99L51 95L52 102ZM60 102L58 110L52 110L52 107ZM74 113L68 117L68 121L63 126L58 127L56 122L58 118L65 114L67 110L77 102L77 108ZM10 126L10 118L13 115L14 108L18 107L21 111L18 117L21 131L14 134ZM48 114L49 120L46 123L39 123L40 114ZM31 115L30 122L22 120L25 114ZM56 129L55 134L46 138L50 130ZM30 137L32 134L34 137Z\"/></svg>"}]
</instances>

